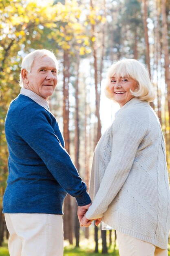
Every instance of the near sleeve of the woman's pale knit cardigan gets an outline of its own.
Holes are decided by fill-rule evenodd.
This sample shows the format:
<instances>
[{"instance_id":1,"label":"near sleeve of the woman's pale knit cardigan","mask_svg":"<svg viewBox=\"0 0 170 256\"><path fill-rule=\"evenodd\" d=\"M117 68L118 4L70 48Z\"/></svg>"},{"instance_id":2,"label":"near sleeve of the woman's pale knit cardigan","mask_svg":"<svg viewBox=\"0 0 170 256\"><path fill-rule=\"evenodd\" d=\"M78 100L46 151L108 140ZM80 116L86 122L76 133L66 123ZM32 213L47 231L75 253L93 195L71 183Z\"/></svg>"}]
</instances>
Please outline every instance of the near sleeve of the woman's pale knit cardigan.
<instances>
[{"instance_id":1,"label":"near sleeve of the woman's pale knit cardigan","mask_svg":"<svg viewBox=\"0 0 170 256\"><path fill-rule=\"evenodd\" d=\"M149 126L148 112L131 109L119 114L113 124L113 145L110 162L86 218L101 218L108 209L132 167L139 144Z\"/></svg>"}]
</instances>

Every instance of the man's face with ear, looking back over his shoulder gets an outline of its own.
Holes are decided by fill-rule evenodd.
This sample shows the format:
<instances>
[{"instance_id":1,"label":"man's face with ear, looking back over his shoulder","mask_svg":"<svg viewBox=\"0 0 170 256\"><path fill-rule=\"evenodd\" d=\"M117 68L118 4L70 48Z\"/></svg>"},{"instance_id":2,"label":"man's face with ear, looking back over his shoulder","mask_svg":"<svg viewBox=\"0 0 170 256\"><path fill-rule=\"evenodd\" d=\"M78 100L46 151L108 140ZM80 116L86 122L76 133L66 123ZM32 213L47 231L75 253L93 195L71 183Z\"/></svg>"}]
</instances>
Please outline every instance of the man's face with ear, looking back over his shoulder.
<instances>
[{"instance_id":1,"label":"man's face with ear, looking back over his shoulder","mask_svg":"<svg viewBox=\"0 0 170 256\"><path fill-rule=\"evenodd\" d=\"M57 68L55 61L49 56L35 59L31 72L27 72L24 88L29 89L48 100L57 85Z\"/></svg>"}]
</instances>

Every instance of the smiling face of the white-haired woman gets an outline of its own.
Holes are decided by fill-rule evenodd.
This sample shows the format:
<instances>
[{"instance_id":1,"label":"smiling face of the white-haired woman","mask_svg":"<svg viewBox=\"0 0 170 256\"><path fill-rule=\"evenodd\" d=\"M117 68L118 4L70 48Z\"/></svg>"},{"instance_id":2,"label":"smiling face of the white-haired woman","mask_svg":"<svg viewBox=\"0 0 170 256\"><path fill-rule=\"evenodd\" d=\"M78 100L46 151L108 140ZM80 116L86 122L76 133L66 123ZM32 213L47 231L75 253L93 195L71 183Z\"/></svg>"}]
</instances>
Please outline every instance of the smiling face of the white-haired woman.
<instances>
[{"instance_id":1,"label":"smiling face of the white-haired woman","mask_svg":"<svg viewBox=\"0 0 170 256\"><path fill-rule=\"evenodd\" d=\"M123 107L134 96L130 93L130 90L134 91L137 88L137 81L131 77L110 77L109 90L113 94L113 99L119 103L120 107Z\"/></svg>"}]
</instances>

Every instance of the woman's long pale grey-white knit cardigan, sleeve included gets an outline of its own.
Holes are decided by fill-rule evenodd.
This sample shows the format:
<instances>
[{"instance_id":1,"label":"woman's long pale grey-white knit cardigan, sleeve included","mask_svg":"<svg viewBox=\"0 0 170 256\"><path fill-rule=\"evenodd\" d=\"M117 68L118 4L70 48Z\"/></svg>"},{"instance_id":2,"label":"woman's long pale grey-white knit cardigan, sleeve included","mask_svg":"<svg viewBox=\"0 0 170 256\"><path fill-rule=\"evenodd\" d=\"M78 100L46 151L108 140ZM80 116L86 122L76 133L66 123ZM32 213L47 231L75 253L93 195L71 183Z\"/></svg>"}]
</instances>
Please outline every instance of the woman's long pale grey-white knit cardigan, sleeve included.
<instances>
[{"instance_id":1,"label":"woman's long pale grey-white knit cardigan, sleeve included","mask_svg":"<svg viewBox=\"0 0 170 256\"><path fill-rule=\"evenodd\" d=\"M170 188L159 120L149 103L126 103L95 149L86 218L168 248Z\"/></svg>"}]
</instances>

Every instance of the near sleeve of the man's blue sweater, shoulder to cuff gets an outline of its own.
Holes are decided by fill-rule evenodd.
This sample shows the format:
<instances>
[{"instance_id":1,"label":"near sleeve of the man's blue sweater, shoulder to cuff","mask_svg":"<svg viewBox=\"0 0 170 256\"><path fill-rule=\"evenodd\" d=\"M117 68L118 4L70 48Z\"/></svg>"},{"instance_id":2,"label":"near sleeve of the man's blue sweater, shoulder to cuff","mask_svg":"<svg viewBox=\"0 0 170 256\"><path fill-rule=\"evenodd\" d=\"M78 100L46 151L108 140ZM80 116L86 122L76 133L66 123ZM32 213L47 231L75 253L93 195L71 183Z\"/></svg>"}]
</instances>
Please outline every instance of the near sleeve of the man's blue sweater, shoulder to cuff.
<instances>
[{"instance_id":1,"label":"near sleeve of the man's blue sweater, shoulder to cuff","mask_svg":"<svg viewBox=\"0 0 170 256\"><path fill-rule=\"evenodd\" d=\"M44 108L34 103L23 108L18 118L18 134L42 159L60 186L76 198L79 206L91 202L86 184L57 138Z\"/></svg>"}]
</instances>

